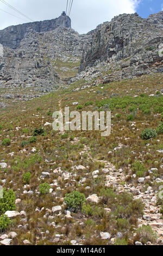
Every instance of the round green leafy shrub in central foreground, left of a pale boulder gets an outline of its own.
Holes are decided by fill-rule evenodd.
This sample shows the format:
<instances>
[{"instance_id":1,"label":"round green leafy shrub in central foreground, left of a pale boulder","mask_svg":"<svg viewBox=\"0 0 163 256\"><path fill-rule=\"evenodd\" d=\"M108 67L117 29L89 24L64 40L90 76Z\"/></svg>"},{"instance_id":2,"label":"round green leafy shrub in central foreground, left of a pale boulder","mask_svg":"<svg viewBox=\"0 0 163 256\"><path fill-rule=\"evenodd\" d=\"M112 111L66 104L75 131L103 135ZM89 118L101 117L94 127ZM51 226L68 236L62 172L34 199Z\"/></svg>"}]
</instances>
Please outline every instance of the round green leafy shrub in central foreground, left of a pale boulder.
<instances>
[{"instance_id":1,"label":"round green leafy shrub in central foreground, left of a pale boulder","mask_svg":"<svg viewBox=\"0 0 163 256\"><path fill-rule=\"evenodd\" d=\"M82 209L82 205L86 202L86 199L83 193L73 191L70 194L65 194L64 201L69 209L77 211Z\"/></svg>"}]
</instances>

